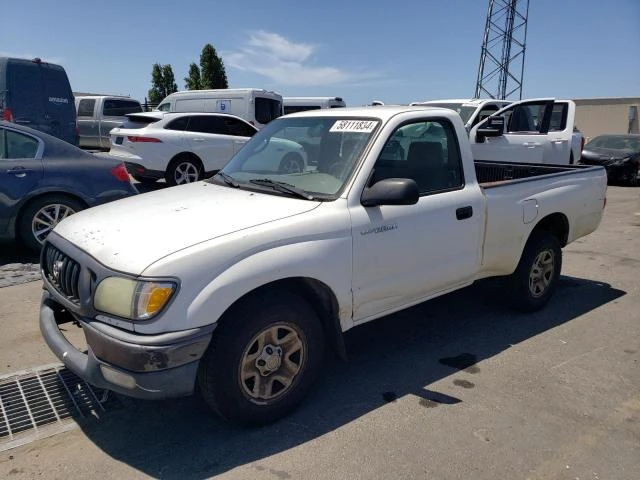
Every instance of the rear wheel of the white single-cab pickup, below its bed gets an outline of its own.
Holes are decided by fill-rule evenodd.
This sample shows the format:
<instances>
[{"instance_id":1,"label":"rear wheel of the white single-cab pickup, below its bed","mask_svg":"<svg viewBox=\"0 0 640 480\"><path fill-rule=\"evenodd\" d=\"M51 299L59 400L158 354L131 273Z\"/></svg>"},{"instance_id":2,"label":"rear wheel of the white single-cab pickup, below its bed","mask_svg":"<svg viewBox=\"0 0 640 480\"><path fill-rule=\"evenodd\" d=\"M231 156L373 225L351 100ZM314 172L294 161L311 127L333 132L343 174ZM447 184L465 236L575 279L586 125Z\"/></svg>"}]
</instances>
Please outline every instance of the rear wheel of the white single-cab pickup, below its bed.
<instances>
[{"instance_id":1,"label":"rear wheel of the white single-cab pickup, below its bed","mask_svg":"<svg viewBox=\"0 0 640 480\"><path fill-rule=\"evenodd\" d=\"M557 237L549 232L534 232L518 263L508 277L511 304L525 312L542 308L555 291L562 269L562 249Z\"/></svg>"}]
</instances>

